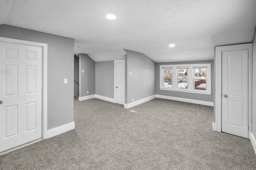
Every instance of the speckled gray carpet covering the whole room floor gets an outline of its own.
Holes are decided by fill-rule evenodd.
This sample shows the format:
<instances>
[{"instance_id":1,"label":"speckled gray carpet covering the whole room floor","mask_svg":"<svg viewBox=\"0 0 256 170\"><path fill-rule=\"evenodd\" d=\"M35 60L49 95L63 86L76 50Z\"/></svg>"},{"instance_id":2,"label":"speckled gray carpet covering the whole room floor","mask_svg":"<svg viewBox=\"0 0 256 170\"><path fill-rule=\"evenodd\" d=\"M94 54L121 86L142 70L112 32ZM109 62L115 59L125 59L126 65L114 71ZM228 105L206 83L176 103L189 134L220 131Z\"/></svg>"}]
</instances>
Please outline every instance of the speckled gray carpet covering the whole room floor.
<instances>
[{"instance_id":1,"label":"speckled gray carpet covering the whole room floor","mask_svg":"<svg viewBox=\"0 0 256 170\"><path fill-rule=\"evenodd\" d=\"M130 110L137 111L137 113ZM74 99L76 129L0 156L0 169L256 169L249 139L212 131L213 107Z\"/></svg>"}]
</instances>

